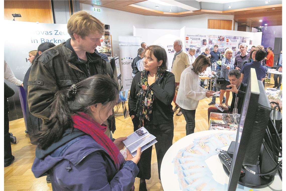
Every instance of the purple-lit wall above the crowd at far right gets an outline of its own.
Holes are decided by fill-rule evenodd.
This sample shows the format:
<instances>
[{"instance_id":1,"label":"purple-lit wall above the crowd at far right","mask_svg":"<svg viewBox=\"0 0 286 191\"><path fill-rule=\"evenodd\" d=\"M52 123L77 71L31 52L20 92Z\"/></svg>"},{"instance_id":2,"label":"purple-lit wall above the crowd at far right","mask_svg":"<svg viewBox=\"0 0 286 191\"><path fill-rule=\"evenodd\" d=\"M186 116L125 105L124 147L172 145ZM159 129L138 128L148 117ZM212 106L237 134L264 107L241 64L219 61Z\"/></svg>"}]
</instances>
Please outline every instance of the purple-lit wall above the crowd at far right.
<instances>
[{"instance_id":1,"label":"purple-lit wall above the crowd at far right","mask_svg":"<svg viewBox=\"0 0 286 191\"><path fill-rule=\"evenodd\" d=\"M275 30L275 34L273 34ZM274 48L274 40L275 38L282 38L282 26L269 26L267 29L262 30L262 42L261 45L264 48L272 47Z\"/></svg>"}]
</instances>

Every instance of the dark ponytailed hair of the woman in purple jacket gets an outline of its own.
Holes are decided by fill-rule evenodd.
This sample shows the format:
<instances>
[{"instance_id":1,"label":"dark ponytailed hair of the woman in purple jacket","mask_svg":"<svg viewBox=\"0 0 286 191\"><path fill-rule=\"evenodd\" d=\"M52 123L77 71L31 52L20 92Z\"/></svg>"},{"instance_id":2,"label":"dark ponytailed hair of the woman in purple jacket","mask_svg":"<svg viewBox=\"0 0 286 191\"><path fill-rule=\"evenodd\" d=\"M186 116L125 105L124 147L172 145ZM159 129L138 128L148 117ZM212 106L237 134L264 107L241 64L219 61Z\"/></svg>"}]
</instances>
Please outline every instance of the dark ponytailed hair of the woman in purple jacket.
<instances>
[{"instance_id":1,"label":"dark ponytailed hair of the woman in purple jacket","mask_svg":"<svg viewBox=\"0 0 286 191\"><path fill-rule=\"evenodd\" d=\"M94 75L76 84L76 93L72 88L59 90L51 107L49 121L43 126L37 137L38 146L46 149L59 141L66 129L73 128L72 115L78 112L88 113L91 105L118 100L118 85L105 75Z\"/></svg>"}]
</instances>

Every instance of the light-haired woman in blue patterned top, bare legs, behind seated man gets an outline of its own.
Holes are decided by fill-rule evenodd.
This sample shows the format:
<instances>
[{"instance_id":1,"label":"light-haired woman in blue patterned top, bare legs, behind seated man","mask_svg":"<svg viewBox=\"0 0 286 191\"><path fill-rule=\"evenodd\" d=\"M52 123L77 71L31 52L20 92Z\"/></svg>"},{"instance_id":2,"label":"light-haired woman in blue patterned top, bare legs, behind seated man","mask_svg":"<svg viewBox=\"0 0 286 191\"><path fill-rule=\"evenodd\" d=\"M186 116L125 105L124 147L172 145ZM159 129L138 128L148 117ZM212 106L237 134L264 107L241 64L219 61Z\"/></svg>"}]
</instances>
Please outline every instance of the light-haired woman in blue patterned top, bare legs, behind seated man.
<instances>
[{"instance_id":1,"label":"light-haired woman in blue patterned top, bare legs, behind seated man","mask_svg":"<svg viewBox=\"0 0 286 191\"><path fill-rule=\"evenodd\" d=\"M220 105L223 104L223 95L225 94L225 90L229 89L227 88L228 85L231 83L229 82L229 71L233 70L235 68L233 64L233 50L227 49L225 50L225 57L221 60L221 78L224 78L223 84L221 84L221 93L219 95L219 103ZM227 91L226 95L226 101L225 105L228 106L228 101L229 101L229 91Z\"/></svg>"}]
</instances>

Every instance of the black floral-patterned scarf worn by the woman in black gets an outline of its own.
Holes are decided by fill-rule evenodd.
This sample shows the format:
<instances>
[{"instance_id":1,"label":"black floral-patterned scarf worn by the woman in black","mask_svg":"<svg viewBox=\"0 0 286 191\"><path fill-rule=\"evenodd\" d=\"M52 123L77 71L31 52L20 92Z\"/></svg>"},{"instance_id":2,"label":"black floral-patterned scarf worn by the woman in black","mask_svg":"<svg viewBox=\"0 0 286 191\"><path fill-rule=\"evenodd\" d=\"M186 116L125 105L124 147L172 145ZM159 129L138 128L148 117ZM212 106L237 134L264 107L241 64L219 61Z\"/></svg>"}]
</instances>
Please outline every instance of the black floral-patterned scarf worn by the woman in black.
<instances>
[{"instance_id":1,"label":"black floral-patterned scarf worn by the woman in black","mask_svg":"<svg viewBox=\"0 0 286 191\"><path fill-rule=\"evenodd\" d=\"M137 117L139 118L139 128L143 126L144 120L150 121L151 114L152 114L152 105L154 101L154 94L152 90L149 88L148 84L148 71L143 70L141 73L141 80L138 83L142 89L137 94ZM156 81L160 86L160 83L162 82L164 73L157 72L156 74Z\"/></svg>"}]
</instances>

